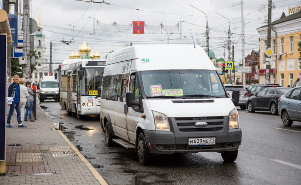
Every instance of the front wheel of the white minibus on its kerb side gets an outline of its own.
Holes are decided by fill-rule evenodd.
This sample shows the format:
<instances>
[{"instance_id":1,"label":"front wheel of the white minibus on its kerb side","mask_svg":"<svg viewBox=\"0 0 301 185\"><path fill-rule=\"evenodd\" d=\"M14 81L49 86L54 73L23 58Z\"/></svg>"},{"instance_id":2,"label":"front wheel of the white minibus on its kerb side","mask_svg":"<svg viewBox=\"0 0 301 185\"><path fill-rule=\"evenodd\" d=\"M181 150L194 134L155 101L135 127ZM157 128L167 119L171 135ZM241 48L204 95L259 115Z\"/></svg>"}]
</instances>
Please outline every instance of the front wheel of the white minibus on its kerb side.
<instances>
[{"instance_id":1,"label":"front wheel of the white minibus on its kerb side","mask_svg":"<svg viewBox=\"0 0 301 185\"><path fill-rule=\"evenodd\" d=\"M147 142L143 132L139 134L138 142L137 142L137 153L140 164L146 166L151 164L152 155L147 146Z\"/></svg>"}]
</instances>

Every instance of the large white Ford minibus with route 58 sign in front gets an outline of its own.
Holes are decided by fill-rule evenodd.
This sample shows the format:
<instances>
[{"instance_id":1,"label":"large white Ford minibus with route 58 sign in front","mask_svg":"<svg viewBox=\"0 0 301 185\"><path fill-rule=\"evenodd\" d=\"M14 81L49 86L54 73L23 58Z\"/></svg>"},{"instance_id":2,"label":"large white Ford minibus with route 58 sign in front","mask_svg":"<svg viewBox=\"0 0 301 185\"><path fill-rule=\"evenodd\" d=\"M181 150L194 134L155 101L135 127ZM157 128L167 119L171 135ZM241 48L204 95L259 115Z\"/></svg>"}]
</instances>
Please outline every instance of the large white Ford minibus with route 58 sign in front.
<instances>
[{"instance_id":1,"label":"large white Ford minibus with route 58 sign in front","mask_svg":"<svg viewBox=\"0 0 301 185\"><path fill-rule=\"evenodd\" d=\"M100 121L106 145L136 149L142 165L153 154L177 152L219 152L233 162L241 144L238 112L200 46L130 46L110 53Z\"/></svg>"}]
</instances>

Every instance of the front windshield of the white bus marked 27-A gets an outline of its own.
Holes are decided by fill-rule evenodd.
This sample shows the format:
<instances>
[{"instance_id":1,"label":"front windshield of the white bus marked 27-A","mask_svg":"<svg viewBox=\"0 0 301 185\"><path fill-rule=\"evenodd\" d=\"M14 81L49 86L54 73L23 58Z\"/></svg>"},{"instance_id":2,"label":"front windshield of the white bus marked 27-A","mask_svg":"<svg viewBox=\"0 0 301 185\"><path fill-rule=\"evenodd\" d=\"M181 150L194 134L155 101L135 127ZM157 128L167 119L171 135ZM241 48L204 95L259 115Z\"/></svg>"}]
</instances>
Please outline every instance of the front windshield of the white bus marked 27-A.
<instances>
[{"instance_id":1,"label":"front windshield of the white bus marked 27-A","mask_svg":"<svg viewBox=\"0 0 301 185\"><path fill-rule=\"evenodd\" d=\"M83 70L81 94L89 95L89 91L97 91L97 88L101 87L104 68L83 68Z\"/></svg>"}]
</instances>

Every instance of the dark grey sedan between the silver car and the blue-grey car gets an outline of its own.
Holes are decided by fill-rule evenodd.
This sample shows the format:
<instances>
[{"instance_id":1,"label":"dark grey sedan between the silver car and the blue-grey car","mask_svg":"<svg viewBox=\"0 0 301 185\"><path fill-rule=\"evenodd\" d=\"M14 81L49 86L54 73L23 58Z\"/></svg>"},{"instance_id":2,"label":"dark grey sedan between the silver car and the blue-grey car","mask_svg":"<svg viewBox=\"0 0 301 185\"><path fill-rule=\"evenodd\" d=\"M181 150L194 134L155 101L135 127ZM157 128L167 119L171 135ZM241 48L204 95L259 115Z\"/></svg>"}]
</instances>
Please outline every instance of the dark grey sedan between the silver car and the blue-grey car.
<instances>
[{"instance_id":1,"label":"dark grey sedan between the silver car and the blue-grey car","mask_svg":"<svg viewBox=\"0 0 301 185\"><path fill-rule=\"evenodd\" d=\"M271 111L272 115L278 112L278 99L291 88L267 87L259 93L254 93L247 101L247 109L250 113L255 111Z\"/></svg>"}]
</instances>

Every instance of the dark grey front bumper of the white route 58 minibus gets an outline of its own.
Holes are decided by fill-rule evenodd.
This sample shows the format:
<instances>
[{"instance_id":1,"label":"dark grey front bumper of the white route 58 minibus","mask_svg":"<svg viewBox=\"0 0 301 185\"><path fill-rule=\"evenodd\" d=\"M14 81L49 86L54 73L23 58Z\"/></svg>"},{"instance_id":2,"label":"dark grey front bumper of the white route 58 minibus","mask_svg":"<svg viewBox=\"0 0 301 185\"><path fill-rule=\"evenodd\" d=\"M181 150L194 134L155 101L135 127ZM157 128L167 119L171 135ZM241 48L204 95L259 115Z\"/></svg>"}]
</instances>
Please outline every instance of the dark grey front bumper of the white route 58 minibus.
<instances>
[{"instance_id":1,"label":"dark grey front bumper of the white route 58 minibus","mask_svg":"<svg viewBox=\"0 0 301 185\"><path fill-rule=\"evenodd\" d=\"M241 144L241 128L231 129L227 135L214 135L215 145L188 146L189 138L204 138L198 134L187 133L186 136L175 137L170 131L144 130L147 143L151 143L150 152L154 154L224 152L238 150Z\"/></svg>"}]
</instances>

